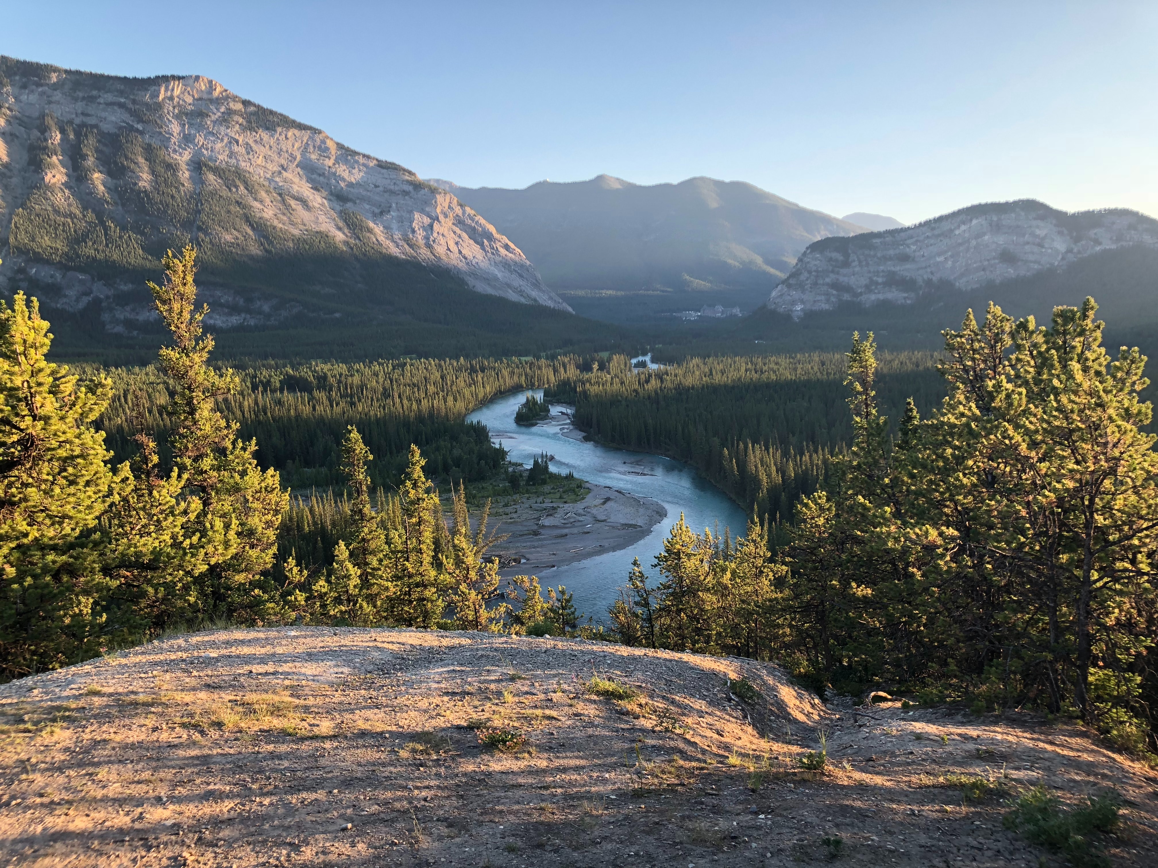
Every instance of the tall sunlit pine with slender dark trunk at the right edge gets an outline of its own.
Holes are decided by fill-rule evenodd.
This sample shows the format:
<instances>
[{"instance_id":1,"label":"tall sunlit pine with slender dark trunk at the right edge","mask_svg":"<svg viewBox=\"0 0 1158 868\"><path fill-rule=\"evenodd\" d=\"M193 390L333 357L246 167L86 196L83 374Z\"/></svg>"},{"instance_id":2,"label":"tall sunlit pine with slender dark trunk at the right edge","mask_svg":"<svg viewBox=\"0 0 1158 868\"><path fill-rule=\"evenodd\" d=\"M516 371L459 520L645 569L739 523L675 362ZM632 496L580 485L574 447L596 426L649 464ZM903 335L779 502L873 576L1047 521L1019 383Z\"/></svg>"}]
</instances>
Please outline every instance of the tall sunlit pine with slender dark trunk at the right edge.
<instances>
[{"instance_id":1,"label":"tall sunlit pine with slender dark trunk at the right edge","mask_svg":"<svg viewBox=\"0 0 1158 868\"><path fill-rule=\"evenodd\" d=\"M1095 637L1120 609L1123 586L1150 579L1158 542L1156 436L1141 431L1152 409L1138 400L1150 384L1146 360L1122 347L1111 362L1097 310L1086 299L1080 309L1055 308L1049 329L1019 322L1013 356L1017 384L1039 407L1025 435L1040 444L1046 485L1035 493L1060 531L1056 554L1054 532L1045 535L1048 546L1031 552L1035 565L1051 556L1049 572L1064 580L1076 640L1073 699L1090 723L1097 719L1090 699Z\"/></svg>"}]
</instances>

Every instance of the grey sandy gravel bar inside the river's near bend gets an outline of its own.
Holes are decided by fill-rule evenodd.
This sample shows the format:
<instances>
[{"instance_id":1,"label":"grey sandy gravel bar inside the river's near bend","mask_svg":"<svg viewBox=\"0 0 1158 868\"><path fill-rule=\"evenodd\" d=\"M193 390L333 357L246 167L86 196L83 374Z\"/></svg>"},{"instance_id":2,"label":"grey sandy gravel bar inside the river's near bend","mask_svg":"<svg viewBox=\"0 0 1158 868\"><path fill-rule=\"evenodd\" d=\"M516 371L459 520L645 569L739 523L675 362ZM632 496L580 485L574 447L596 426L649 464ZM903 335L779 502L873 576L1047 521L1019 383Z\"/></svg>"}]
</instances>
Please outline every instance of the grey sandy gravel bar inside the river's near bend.
<instances>
[{"instance_id":1,"label":"grey sandy gravel bar inside the river's near bend","mask_svg":"<svg viewBox=\"0 0 1158 868\"><path fill-rule=\"evenodd\" d=\"M651 498L587 484L591 493L578 503L536 503L534 498L497 510L491 527L508 538L491 550L504 564L501 575L538 575L550 582L555 568L596 554L626 549L646 537L667 510ZM624 575L629 568L624 564Z\"/></svg>"}]
</instances>

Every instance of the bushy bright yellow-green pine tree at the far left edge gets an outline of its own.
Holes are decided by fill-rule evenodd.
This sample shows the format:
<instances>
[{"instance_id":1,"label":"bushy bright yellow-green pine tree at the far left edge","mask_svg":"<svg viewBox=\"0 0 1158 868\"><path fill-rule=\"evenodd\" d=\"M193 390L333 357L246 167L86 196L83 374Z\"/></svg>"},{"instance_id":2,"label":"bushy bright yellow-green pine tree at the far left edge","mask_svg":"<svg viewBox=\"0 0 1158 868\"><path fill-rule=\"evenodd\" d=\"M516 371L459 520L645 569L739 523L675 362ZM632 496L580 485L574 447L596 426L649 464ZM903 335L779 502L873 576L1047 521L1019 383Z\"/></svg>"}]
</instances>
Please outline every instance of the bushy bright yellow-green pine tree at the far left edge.
<instances>
[{"instance_id":1,"label":"bushy bright yellow-green pine tree at the far left edge","mask_svg":"<svg viewBox=\"0 0 1158 868\"><path fill-rule=\"evenodd\" d=\"M93 427L109 381L81 384L47 361L47 330L35 299L0 302L0 665L10 676L100 643L108 581L91 537L124 479Z\"/></svg>"}]
</instances>

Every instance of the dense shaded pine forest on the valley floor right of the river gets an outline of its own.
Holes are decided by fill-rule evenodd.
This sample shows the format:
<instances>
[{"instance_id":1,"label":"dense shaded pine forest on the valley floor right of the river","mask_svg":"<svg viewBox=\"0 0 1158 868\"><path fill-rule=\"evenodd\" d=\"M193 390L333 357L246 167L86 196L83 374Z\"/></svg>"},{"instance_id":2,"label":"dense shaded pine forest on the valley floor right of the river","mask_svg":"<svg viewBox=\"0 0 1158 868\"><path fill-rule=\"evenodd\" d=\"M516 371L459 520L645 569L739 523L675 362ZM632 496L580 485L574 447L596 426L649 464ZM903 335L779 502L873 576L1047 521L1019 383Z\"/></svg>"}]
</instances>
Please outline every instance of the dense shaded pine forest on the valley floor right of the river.
<instances>
[{"instance_id":1,"label":"dense shaded pine forest on the valley floor right of the river","mask_svg":"<svg viewBox=\"0 0 1158 868\"><path fill-rule=\"evenodd\" d=\"M695 465L768 518L775 540L852 440L845 367L843 354L812 353L689 359L638 372L615 356L602 370L560 378L545 396L574 404L576 425L600 442ZM887 410L909 397L928 410L945 393L933 353L888 354L881 369Z\"/></svg>"}]
</instances>

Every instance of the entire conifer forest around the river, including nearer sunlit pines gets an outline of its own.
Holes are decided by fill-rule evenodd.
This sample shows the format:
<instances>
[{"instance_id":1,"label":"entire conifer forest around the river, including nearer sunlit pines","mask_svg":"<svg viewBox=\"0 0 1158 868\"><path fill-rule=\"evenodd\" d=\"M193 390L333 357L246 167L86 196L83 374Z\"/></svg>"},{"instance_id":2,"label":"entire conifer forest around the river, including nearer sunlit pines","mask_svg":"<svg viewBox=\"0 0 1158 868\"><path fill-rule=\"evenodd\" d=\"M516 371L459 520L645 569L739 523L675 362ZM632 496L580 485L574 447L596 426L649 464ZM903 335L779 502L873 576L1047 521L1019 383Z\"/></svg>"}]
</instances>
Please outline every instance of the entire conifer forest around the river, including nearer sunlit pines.
<instances>
[{"instance_id":1,"label":"entire conifer forest around the river, including nearer sunlit pines","mask_svg":"<svg viewBox=\"0 0 1158 868\"><path fill-rule=\"evenodd\" d=\"M654 372L233 370L212 363L195 256L151 285L170 336L155 366L79 376L47 360L35 299L0 314L7 677L213 620L582 632L779 660L821 693L1040 707L1156 746L1149 381L1137 351L1102 347L1092 300L1048 326L970 312L940 355L878 354L870 334L846 355ZM750 512L743 535L681 518L653 564L624 564L606 630L564 588L500 582L468 488L512 469L463 417L535 387L593 437L692 463ZM543 456L525 481L549 475Z\"/></svg>"}]
</instances>

